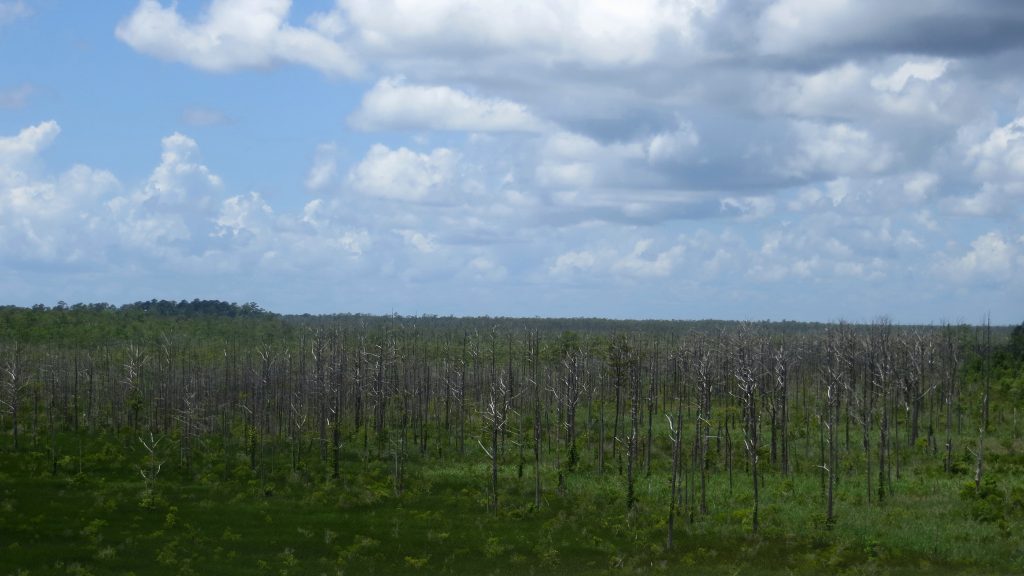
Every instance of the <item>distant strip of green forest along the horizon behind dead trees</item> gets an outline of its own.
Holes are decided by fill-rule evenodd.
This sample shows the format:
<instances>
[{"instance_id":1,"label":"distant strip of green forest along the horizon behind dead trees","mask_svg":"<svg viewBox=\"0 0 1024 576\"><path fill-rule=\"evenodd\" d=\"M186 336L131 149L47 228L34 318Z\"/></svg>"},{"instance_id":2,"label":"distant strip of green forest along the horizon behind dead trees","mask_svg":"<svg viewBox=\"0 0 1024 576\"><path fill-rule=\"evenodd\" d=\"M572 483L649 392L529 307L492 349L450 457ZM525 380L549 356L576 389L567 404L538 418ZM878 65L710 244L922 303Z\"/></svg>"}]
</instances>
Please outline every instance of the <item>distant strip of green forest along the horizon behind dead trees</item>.
<instances>
[{"instance_id":1,"label":"distant strip of green forest along the horizon behind dead trees","mask_svg":"<svg viewBox=\"0 0 1024 576\"><path fill-rule=\"evenodd\" d=\"M227 322L224 322L227 320ZM889 322L887 319L878 319ZM981 319L979 319L980 321ZM241 342L261 341L267 337L294 336L306 328L376 330L402 327L420 333L447 332L536 332L557 335L578 332L590 335L644 333L672 336L685 333L714 333L744 324L759 324L773 334L809 335L823 332L830 324L822 322L729 321L729 320L611 320L604 318L510 318L325 314L282 315L256 302L236 303L223 300L140 300L115 305L105 302L31 307L0 305L0 339L17 338L26 342L59 340L81 344L113 344L146 338L170 331L174 334L224 338ZM857 329L857 324L851 325ZM866 327L862 325L861 327ZM911 325L906 328L938 329L939 326ZM992 326L996 343L1009 340L1014 326Z\"/></svg>"}]
</instances>

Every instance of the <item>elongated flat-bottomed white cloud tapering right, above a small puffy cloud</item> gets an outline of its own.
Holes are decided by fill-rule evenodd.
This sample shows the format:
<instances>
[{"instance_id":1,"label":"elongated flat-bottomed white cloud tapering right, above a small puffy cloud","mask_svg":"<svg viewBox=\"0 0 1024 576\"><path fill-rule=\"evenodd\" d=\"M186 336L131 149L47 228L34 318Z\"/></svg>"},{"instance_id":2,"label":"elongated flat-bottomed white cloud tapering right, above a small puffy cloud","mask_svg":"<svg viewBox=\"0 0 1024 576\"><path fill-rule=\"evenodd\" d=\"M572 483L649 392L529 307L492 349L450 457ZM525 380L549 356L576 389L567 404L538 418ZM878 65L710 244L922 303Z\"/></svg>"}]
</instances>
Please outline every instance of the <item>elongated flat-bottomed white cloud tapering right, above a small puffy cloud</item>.
<instances>
[{"instance_id":1,"label":"elongated flat-bottomed white cloud tapering right, above a small puffy cloud","mask_svg":"<svg viewBox=\"0 0 1024 576\"><path fill-rule=\"evenodd\" d=\"M408 84L401 77L378 81L349 121L364 130L537 132L545 129L544 123L522 105L476 97L449 86Z\"/></svg>"}]
</instances>

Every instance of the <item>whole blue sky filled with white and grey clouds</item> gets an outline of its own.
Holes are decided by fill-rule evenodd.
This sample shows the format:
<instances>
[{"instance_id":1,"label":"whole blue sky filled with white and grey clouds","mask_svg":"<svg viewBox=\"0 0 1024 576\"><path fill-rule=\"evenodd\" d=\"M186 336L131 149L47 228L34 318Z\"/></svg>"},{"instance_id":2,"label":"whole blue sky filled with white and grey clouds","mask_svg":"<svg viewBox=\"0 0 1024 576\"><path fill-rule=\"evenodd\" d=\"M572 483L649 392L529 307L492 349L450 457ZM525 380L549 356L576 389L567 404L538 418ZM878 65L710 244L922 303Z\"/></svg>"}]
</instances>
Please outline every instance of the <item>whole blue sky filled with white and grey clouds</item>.
<instances>
[{"instance_id":1,"label":"whole blue sky filled with white and grey clouds","mask_svg":"<svg viewBox=\"0 0 1024 576\"><path fill-rule=\"evenodd\" d=\"M0 0L0 303L1024 320L1018 0Z\"/></svg>"}]
</instances>

